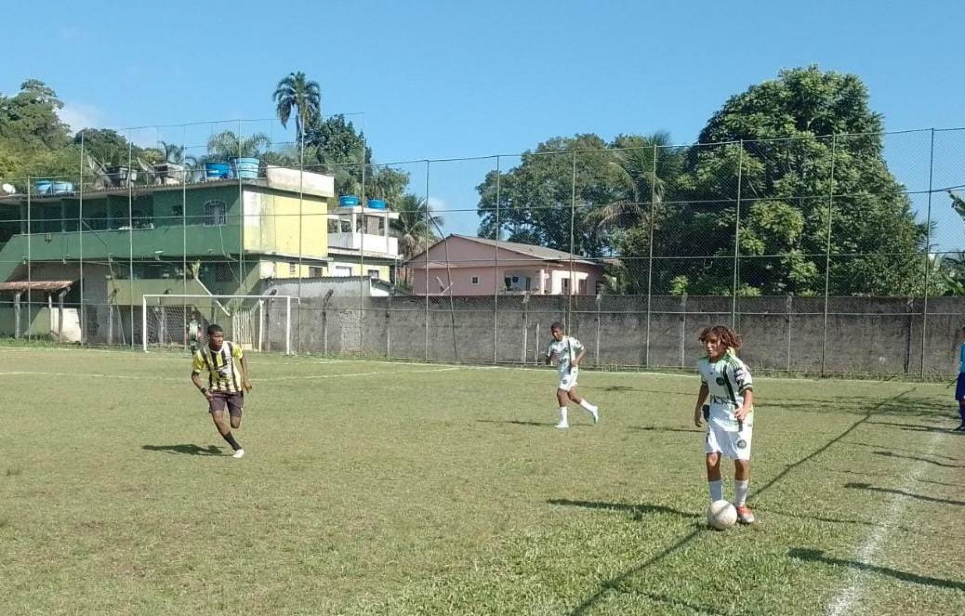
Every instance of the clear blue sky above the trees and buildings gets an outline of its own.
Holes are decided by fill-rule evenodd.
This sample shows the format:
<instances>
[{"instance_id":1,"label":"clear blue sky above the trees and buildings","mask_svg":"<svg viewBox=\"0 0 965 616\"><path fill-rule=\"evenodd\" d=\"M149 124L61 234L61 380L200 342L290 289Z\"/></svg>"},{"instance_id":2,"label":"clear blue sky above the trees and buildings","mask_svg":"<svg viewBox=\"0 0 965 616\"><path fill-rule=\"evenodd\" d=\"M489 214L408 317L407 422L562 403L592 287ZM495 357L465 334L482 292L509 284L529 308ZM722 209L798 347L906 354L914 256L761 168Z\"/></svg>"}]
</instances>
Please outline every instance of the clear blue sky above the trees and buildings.
<instances>
[{"instance_id":1,"label":"clear blue sky above the trees and buildings","mask_svg":"<svg viewBox=\"0 0 965 616\"><path fill-rule=\"evenodd\" d=\"M39 78L67 102L75 127L269 119L277 81L303 70L321 85L326 114L364 112L353 119L379 162L512 154L577 132L667 130L686 143L731 94L811 63L860 75L889 130L965 125L965 5L893 4L18 3L4 10L0 92ZM131 137L186 135L200 145L213 129ZM241 129L286 139L275 122ZM923 169L926 180L929 138L889 141L910 188ZM965 173L955 170L965 168L965 137L944 138L949 160L936 169L948 177L936 175L936 185ZM432 165L432 201L473 209L473 186L493 165ZM425 165L408 168L425 192ZM461 232L477 220L471 211L449 218L447 230ZM941 223L945 241L965 244L956 221Z\"/></svg>"}]
</instances>

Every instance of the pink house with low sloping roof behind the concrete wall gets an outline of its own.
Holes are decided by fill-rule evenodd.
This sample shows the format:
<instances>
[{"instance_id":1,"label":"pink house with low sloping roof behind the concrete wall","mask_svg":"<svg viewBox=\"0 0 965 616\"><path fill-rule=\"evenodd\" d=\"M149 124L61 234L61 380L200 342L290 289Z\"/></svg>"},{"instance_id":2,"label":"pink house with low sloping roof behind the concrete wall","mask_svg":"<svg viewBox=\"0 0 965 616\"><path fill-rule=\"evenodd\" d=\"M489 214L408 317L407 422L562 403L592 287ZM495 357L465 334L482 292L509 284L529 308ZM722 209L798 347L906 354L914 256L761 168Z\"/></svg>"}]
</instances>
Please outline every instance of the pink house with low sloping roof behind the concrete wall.
<instances>
[{"instance_id":1,"label":"pink house with low sloping roof behind the concrete wall","mask_svg":"<svg viewBox=\"0 0 965 616\"><path fill-rule=\"evenodd\" d=\"M405 266L414 295L593 295L603 266L541 246L450 235Z\"/></svg>"}]
</instances>

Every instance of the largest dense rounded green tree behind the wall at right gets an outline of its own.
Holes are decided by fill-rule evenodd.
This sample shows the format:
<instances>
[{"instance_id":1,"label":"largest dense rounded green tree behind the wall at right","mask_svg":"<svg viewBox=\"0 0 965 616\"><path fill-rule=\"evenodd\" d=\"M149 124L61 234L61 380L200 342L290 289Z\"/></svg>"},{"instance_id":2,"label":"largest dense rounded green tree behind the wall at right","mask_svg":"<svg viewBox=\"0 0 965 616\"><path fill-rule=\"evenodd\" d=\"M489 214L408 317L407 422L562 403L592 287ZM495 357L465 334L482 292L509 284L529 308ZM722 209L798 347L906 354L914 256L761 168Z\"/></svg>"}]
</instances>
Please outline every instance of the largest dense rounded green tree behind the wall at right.
<instances>
[{"instance_id":1,"label":"largest dense rounded green tree behind the wall at right","mask_svg":"<svg viewBox=\"0 0 965 616\"><path fill-rule=\"evenodd\" d=\"M926 229L885 163L881 131L854 75L794 68L732 96L654 221L654 254L686 258L655 262L653 291L730 294L739 235L741 294L823 293L829 246L831 293L914 293ZM648 229L629 235L625 253L648 254Z\"/></svg>"}]
</instances>

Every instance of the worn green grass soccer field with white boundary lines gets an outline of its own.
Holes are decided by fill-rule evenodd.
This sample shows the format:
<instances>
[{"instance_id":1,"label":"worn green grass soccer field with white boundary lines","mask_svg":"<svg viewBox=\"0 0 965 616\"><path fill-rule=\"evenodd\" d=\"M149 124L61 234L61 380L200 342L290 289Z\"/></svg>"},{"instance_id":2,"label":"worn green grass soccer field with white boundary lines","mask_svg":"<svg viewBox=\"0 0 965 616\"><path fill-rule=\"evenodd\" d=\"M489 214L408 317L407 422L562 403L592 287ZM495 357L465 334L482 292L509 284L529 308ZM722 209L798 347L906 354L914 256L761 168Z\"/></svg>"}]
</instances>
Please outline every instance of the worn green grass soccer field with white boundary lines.
<instances>
[{"instance_id":1,"label":"worn green grass soccer field with white boundary lines","mask_svg":"<svg viewBox=\"0 0 965 616\"><path fill-rule=\"evenodd\" d=\"M944 385L758 378L719 532L696 377L250 362L234 460L186 355L0 349L2 613L965 613Z\"/></svg>"}]
</instances>

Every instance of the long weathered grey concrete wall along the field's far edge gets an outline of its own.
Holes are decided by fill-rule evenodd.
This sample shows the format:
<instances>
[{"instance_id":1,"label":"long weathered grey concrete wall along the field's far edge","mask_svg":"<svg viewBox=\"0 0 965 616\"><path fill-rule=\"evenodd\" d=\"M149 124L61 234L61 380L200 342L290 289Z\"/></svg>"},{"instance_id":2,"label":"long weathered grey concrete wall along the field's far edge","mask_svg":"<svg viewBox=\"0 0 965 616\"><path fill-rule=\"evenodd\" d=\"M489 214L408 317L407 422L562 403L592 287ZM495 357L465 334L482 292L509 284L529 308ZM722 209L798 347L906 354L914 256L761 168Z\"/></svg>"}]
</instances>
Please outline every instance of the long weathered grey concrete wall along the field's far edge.
<instances>
[{"instance_id":1,"label":"long weathered grey concrete wall along the field's far edge","mask_svg":"<svg viewBox=\"0 0 965 616\"><path fill-rule=\"evenodd\" d=\"M449 298L335 297L329 308L306 299L292 308L292 346L300 352L366 353L396 359L462 362L533 361L549 341L549 324L564 320L601 366L690 367L703 354L704 327L731 323L731 298L534 296ZM391 302L391 305L390 305ZM361 309L360 309L361 308ZM922 300L831 298L827 335L821 299L740 298L741 357L758 369L828 373L953 375L956 333L965 298ZM270 316L272 345L283 338L284 312ZM426 325L428 323L428 331ZM649 336L648 336L649 330ZM495 335L494 335L495 332ZM924 334L923 334L924 333ZM649 342L648 342L649 340ZM826 346L825 346L826 345ZM923 370L924 360L924 370Z\"/></svg>"}]
</instances>

